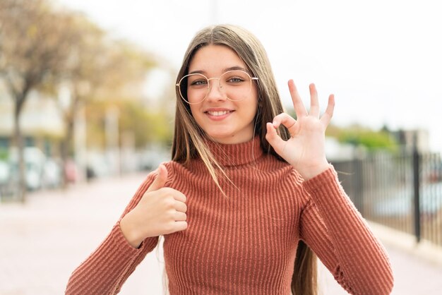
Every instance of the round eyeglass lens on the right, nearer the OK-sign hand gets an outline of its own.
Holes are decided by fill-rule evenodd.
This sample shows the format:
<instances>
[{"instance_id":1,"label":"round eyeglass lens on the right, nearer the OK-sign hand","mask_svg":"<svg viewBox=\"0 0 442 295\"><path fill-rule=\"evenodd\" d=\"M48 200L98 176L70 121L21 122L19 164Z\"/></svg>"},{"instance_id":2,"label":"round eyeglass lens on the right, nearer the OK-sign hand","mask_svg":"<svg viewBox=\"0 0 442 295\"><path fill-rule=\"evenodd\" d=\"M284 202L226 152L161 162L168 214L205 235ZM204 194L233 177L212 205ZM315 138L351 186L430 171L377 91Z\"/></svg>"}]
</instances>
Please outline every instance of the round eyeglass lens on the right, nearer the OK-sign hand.
<instances>
[{"instance_id":1,"label":"round eyeglass lens on the right, nearer the OK-sign hand","mask_svg":"<svg viewBox=\"0 0 442 295\"><path fill-rule=\"evenodd\" d=\"M227 71L220 77L220 86L229 100L244 100L251 90L251 78L244 71Z\"/></svg>"}]
</instances>

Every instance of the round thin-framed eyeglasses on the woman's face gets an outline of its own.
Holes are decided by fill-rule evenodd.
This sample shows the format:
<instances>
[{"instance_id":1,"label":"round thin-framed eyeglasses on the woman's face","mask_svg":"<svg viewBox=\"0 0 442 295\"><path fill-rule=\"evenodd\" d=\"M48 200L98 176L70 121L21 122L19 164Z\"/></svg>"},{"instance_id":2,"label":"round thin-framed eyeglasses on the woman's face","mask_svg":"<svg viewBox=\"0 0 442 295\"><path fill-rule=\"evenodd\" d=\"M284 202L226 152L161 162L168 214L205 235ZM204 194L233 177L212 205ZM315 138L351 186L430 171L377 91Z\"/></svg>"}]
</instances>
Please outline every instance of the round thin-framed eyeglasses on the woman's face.
<instances>
[{"instance_id":1,"label":"round thin-framed eyeglasses on the woman's face","mask_svg":"<svg viewBox=\"0 0 442 295\"><path fill-rule=\"evenodd\" d=\"M232 102L244 100L251 91L251 81L258 80L241 70L227 71L220 78L207 78L201 73L191 73L177 83L179 95L188 104L203 102L210 92L210 80L219 80L220 90ZM213 85L212 85L213 86Z\"/></svg>"}]
</instances>

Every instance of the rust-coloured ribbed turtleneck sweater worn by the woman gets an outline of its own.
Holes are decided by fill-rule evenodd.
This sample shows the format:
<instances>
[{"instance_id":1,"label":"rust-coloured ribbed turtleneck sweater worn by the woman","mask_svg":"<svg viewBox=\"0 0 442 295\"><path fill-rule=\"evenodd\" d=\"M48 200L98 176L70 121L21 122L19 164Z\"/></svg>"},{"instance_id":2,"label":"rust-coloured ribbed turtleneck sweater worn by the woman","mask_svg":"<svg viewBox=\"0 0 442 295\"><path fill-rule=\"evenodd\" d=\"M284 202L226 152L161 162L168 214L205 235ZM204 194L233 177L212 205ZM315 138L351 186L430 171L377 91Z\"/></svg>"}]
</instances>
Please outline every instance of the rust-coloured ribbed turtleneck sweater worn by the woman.
<instances>
[{"instance_id":1,"label":"rust-coloured ribbed turtleneck sweater worn by the woman","mask_svg":"<svg viewBox=\"0 0 442 295\"><path fill-rule=\"evenodd\" d=\"M200 159L166 164L166 186L186 195L188 229L165 236L170 294L290 294L299 239L351 294L389 294L383 247L342 190L333 167L304 181L263 153L258 138L211 146L236 187L219 191ZM150 174L123 216L153 182ZM66 294L115 294L158 238L127 243L119 222L71 275ZM146 294L148 291L146 290Z\"/></svg>"}]
</instances>

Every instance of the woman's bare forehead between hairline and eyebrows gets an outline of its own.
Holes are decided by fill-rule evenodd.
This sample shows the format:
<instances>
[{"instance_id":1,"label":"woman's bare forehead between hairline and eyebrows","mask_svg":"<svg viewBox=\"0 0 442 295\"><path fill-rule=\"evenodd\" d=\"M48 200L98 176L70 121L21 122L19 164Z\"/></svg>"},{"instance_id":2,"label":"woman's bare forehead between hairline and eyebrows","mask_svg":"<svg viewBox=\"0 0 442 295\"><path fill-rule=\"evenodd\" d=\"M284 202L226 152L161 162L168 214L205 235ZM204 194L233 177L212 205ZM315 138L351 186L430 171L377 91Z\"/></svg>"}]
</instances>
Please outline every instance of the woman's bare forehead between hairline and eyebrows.
<instances>
[{"instance_id":1,"label":"woman's bare forehead between hairline and eyebrows","mask_svg":"<svg viewBox=\"0 0 442 295\"><path fill-rule=\"evenodd\" d=\"M228 68L247 68L238 54L225 45L210 44L201 47L193 55L189 64L189 73L201 71L208 74L220 74Z\"/></svg>"}]
</instances>

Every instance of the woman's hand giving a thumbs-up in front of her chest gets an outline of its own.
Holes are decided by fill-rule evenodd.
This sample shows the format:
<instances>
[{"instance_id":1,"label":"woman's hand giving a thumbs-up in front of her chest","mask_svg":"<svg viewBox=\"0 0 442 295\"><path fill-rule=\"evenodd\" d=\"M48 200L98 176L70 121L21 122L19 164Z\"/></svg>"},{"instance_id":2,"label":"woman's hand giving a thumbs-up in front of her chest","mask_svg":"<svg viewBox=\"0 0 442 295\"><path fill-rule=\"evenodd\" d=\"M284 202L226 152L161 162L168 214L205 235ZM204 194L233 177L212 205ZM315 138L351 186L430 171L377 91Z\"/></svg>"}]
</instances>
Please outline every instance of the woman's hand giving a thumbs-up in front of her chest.
<instances>
[{"instance_id":1,"label":"woman's hand giving a thumbs-up in front of her chest","mask_svg":"<svg viewBox=\"0 0 442 295\"><path fill-rule=\"evenodd\" d=\"M158 174L136 207L120 221L126 240L134 248L150 236L172 234L187 228L186 196L165 187L167 169L161 164Z\"/></svg>"}]
</instances>

